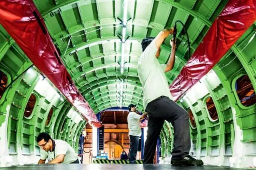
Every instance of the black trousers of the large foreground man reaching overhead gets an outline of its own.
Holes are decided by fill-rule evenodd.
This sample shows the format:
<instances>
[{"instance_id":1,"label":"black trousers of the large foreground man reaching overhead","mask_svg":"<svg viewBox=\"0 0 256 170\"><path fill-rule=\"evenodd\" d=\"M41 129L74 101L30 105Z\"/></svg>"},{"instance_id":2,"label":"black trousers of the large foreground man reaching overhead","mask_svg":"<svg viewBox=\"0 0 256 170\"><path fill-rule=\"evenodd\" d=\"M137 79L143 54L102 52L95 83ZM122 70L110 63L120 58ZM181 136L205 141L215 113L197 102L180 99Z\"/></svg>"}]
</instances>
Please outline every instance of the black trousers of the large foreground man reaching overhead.
<instances>
[{"instance_id":1,"label":"black trousers of the large foreground man reaching overhead","mask_svg":"<svg viewBox=\"0 0 256 170\"><path fill-rule=\"evenodd\" d=\"M157 139L165 120L170 122L174 129L172 159L187 156L190 150L188 113L165 96L148 103L145 111L148 113L148 129L143 164L153 164Z\"/></svg>"}]
</instances>

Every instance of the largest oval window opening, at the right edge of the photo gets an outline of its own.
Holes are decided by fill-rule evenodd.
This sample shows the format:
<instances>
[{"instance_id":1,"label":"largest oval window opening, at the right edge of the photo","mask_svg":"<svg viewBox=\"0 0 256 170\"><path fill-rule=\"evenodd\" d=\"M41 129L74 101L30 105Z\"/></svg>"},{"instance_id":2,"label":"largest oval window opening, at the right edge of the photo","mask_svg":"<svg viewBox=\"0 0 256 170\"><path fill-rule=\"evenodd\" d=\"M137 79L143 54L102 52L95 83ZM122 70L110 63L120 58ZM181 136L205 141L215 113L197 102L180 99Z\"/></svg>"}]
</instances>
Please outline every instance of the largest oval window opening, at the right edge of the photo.
<instances>
[{"instance_id":1,"label":"largest oval window opening, at the right edge of the photo","mask_svg":"<svg viewBox=\"0 0 256 170\"><path fill-rule=\"evenodd\" d=\"M235 88L243 106L248 107L256 103L255 90L248 75L243 75L237 79Z\"/></svg>"}]
</instances>

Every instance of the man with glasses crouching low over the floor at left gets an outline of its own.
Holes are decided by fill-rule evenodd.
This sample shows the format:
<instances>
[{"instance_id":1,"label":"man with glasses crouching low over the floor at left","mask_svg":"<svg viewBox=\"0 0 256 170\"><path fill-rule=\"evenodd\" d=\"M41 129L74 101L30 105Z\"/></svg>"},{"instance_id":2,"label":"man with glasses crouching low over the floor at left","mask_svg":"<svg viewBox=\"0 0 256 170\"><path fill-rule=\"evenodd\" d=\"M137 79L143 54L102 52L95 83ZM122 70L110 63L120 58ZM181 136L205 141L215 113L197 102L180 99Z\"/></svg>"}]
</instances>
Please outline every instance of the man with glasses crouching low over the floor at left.
<instances>
[{"instance_id":1,"label":"man with glasses crouching low over the floor at left","mask_svg":"<svg viewBox=\"0 0 256 170\"><path fill-rule=\"evenodd\" d=\"M52 139L48 133L40 133L37 137L40 150L40 160L38 164L45 164L48 158L48 164L80 164L74 149L65 141Z\"/></svg>"}]
</instances>

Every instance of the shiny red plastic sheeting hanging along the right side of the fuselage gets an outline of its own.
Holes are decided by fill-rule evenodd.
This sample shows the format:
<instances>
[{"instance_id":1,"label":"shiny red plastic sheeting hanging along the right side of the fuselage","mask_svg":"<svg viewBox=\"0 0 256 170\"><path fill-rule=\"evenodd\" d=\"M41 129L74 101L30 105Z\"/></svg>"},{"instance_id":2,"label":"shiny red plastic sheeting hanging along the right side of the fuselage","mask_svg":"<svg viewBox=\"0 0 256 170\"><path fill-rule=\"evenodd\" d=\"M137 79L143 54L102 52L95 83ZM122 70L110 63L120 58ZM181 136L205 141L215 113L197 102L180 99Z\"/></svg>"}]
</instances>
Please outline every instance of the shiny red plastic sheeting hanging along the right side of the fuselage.
<instances>
[{"instance_id":1,"label":"shiny red plastic sheeting hanging along the right side of the fuselage","mask_svg":"<svg viewBox=\"0 0 256 170\"><path fill-rule=\"evenodd\" d=\"M225 55L256 20L256 0L229 0L170 86L176 101Z\"/></svg>"}]
</instances>

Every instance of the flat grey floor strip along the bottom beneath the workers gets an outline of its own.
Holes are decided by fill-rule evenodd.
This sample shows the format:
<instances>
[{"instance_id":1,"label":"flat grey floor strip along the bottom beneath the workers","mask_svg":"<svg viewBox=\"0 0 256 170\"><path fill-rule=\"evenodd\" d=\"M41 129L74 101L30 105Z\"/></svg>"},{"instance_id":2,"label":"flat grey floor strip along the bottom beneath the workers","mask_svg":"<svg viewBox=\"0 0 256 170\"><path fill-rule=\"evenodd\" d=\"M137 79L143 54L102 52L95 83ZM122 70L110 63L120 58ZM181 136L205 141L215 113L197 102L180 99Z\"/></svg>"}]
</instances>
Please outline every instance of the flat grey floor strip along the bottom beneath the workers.
<instances>
[{"instance_id":1,"label":"flat grey floor strip along the bottom beneath the workers","mask_svg":"<svg viewBox=\"0 0 256 170\"><path fill-rule=\"evenodd\" d=\"M143 164L55 164L55 165L27 165L27 166L17 166L17 167L5 167L0 168L1 170L35 170L35 169L51 169L51 170L244 170L238 168L228 168L228 167L214 167L214 166L202 166L202 167L174 167L167 164L158 165L143 165Z\"/></svg>"}]
</instances>

